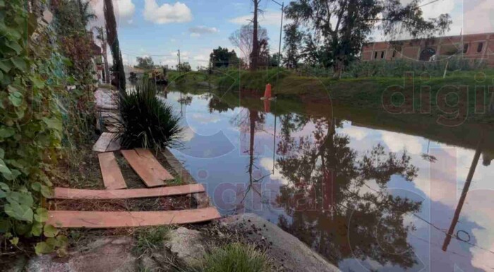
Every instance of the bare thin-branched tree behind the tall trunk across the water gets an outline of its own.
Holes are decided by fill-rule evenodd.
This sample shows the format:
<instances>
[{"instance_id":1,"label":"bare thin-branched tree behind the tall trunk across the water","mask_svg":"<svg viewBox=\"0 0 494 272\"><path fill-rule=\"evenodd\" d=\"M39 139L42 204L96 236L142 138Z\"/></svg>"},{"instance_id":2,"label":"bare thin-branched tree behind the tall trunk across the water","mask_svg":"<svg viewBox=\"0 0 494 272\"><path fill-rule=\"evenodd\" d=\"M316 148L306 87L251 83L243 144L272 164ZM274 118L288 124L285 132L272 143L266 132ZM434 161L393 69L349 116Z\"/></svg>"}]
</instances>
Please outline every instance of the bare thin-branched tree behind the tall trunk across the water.
<instances>
[{"instance_id":1,"label":"bare thin-branched tree behind the tall trunk across the water","mask_svg":"<svg viewBox=\"0 0 494 272\"><path fill-rule=\"evenodd\" d=\"M231 33L229 40L231 45L239 47L241 53L241 59L246 62L247 65L251 64L252 46L254 40L253 26L252 24L242 25L240 29ZM258 27L258 41L269 40L267 37L267 30L263 27Z\"/></svg>"}]
</instances>

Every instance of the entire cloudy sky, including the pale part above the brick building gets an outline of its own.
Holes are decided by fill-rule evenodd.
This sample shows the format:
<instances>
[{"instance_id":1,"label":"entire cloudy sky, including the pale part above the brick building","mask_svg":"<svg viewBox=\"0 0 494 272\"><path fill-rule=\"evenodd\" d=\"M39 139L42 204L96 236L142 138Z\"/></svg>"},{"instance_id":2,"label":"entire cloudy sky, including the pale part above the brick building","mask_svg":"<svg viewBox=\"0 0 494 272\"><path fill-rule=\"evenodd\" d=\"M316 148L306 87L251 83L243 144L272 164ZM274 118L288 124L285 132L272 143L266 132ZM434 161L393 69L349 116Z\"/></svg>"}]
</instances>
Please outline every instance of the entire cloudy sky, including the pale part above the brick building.
<instances>
[{"instance_id":1,"label":"entire cloudy sky, including the pale part above the brick building","mask_svg":"<svg viewBox=\"0 0 494 272\"><path fill-rule=\"evenodd\" d=\"M90 1L98 16L95 24L102 24L102 0ZM401 1L406 4L411 0ZM421 2L428 4L423 7L426 18L450 13L453 24L447 35L459 35L460 32L494 32L494 5L489 1L492 0ZM213 48L235 49L228 37L248 23L253 9L250 0L114 0L114 6L126 64L135 64L136 57L151 56L155 64L174 66L176 52L180 49L182 61L190 62L193 69L207 65ZM265 11L260 17L260 25L267 28L271 52L277 52L280 8L271 0L261 1L260 8ZM385 39L379 32L375 32L374 37L375 40ZM237 55L241 54L239 49L235 51Z\"/></svg>"}]
</instances>

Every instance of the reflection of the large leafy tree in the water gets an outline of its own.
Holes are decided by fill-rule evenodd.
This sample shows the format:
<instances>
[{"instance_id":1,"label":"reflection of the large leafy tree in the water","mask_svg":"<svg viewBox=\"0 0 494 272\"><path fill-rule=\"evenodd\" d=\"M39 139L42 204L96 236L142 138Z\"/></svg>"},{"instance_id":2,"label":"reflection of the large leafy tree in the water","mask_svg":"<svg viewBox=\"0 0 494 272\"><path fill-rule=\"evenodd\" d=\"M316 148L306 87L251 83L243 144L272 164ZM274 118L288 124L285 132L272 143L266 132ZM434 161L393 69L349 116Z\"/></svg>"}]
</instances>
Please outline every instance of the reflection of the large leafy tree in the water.
<instances>
[{"instance_id":1,"label":"reflection of the large leafy tree in the water","mask_svg":"<svg viewBox=\"0 0 494 272\"><path fill-rule=\"evenodd\" d=\"M385 192L392 175L407 181L416 177L409 155L385 153L378 145L359 156L349 137L336 133L342 124L334 119L312 119L311 136L292 137L306 121L282 118L288 128L282 127L276 164L289 184L280 189L277 202L291 220L281 216L279 225L335 264L369 258L381 265L414 266L406 241L414 226L405 225L404 214L419 211L421 203ZM368 189L369 181L380 193Z\"/></svg>"}]
</instances>

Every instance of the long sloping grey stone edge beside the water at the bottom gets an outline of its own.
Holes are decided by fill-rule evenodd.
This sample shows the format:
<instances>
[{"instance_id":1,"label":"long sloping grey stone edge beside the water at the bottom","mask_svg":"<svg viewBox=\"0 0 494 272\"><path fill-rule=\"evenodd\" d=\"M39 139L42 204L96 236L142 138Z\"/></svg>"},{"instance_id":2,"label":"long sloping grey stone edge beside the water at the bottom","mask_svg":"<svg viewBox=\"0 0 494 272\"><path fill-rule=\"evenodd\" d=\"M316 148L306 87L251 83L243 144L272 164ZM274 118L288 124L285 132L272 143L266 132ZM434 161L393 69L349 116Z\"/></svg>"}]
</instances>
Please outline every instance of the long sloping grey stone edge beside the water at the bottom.
<instances>
[{"instance_id":1,"label":"long sloping grey stone edge beside the water at the bottom","mask_svg":"<svg viewBox=\"0 0 494 272\"><path fill-rule=\"evenodd\" d=\"M267 254L275 260L276 266L284 271L339 271L299 239L253 213L224 218L222 225L231 230L238 230L251 242L266 244Z\"/></svg>"}]
</instances>

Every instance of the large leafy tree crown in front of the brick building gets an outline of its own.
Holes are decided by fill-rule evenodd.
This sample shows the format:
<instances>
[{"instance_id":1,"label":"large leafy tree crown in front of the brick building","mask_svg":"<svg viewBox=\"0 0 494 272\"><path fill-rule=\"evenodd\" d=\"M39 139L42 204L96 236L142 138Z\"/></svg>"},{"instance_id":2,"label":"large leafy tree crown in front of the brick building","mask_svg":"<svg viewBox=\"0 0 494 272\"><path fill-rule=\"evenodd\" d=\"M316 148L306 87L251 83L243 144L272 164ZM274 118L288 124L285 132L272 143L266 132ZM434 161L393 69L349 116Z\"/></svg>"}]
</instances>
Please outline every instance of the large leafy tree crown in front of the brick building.
<instances>
[{"instance_id":1,"label":"large leafy tree crown in front of the brick building","mask_svg":"<svg viewBox=\"0 0 494 272\"><path fill-rule=\"evenodd\" d=\"M452 23L448 14L423 18L420 0L403 5L399 0L297 0L287 7L287 18L313 31L317 43L330 50L332 66L341 72L359 54L373 30L388 37L409 33L426 37L443 33Z\"/></svg>"}]
</instances>

